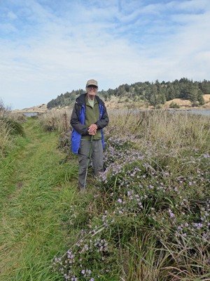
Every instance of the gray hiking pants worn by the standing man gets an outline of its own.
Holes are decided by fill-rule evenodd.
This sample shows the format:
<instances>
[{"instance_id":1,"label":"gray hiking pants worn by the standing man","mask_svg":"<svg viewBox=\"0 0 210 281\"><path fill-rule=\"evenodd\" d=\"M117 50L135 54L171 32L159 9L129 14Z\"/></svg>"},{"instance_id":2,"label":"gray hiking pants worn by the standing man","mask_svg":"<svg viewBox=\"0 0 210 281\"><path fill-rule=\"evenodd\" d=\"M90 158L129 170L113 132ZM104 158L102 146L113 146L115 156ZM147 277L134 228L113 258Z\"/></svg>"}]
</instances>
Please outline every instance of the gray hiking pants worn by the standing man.
<instances>
[{"instance_id":1,"label":"gray hiking pants worn by the standing man","mask_svg":"<svg viewBox=\"0 0 210 281\"><path fill-rule=\"evenodd\" d=\"M84 187L85 174L87 169L87 160L90 150L90 141L81 140L80 148L78 150L78 181L80 188ZM90 158L92 158L92 164L94 167L94 176L98 176L99 172L103 172L103 147L102 140L92 140L92 147L90 151Z\"/></svg>"}]
</instances>

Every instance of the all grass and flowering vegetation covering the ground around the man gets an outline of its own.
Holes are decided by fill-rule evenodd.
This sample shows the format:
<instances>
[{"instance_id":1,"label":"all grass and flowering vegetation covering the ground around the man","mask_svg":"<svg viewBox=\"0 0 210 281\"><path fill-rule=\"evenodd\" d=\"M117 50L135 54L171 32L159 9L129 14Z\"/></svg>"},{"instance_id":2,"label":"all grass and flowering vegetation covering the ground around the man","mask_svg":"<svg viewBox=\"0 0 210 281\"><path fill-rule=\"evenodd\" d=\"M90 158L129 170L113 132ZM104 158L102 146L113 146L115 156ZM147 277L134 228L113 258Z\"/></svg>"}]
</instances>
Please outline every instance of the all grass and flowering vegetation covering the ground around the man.
<instances>
[{"instance_id":1,"label":"all grass and flowering vegetation covering the ground around the man","mask_svg":"<svg viewBox=\"0 0 210 281\"><path fill-rule=\"evenodd\" d=\"M159 110L109 117L105 171L95 182L90 169L85 195L76 188L65 114L28 118L25 136L8 138L1 281L209 280L209 117Z\"/></svg>"}]
</instances>

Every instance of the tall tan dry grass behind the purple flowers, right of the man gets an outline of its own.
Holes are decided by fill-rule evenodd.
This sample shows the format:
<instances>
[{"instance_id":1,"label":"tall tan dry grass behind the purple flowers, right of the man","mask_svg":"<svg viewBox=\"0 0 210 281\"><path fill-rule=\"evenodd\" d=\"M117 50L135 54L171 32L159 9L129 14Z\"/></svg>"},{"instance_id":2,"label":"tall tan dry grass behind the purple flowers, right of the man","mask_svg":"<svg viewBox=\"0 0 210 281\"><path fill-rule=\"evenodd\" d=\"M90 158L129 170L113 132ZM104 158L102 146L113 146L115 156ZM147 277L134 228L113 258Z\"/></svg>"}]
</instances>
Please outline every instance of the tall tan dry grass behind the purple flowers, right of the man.
<instances>
[{"instance_id":1,"label":"tall tan dry grass behind the purple flowers, right of the man","mask_svg":"<svg viewBox=\"0 0 210 281\"><path fill-rule=\"evenodd\" d=\"M111 111L109 119L109 126L118 126L124 136L127 133L135 134L135 138L141 140L141 145L145 145L145 141L152 141L153 145L161 142L176 150L186 145L208 148L210 117L206 115L172 113L167 110L127 110Z\"/></svg>"}]
</instances>

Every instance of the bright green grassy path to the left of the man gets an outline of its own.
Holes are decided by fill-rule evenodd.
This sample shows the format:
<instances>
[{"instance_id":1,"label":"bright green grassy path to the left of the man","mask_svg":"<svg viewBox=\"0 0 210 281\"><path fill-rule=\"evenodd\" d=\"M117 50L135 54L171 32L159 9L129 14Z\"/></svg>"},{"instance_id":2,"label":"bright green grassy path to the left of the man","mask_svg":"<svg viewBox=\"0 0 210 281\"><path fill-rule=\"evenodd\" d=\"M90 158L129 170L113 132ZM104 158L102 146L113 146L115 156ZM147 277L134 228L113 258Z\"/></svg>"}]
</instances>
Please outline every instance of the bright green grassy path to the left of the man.
<instances>
[{"instance_id":1,"label":"bright green grassy path to the left of the man","mask_svg":"<svg viewBox=\"0 0 210 281\"><path fill-rule=\"evenodd\" d=\"M37 119L25 133L0 163L0 280L57 280L50 259L66 244L77 166L61 162L57 134Z\"/></svg>"}]
</instances>

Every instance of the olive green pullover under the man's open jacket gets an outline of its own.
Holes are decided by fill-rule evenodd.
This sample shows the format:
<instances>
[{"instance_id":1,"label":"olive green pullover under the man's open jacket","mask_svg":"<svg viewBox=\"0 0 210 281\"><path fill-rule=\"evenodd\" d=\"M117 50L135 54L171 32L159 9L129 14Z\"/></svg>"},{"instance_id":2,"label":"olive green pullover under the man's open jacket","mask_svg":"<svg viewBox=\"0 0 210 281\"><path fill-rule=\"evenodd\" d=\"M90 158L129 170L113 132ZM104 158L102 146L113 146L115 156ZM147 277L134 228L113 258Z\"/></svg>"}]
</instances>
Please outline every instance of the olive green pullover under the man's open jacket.
<instances>
[{"instance_id":1,"label":"olive green pullover under the man's open jacket","mask_svg":"<svg viewBox=\"0 0 210 281\"><path fill-rule=\"evenodd\" d=\"M92 105L91 105L92 103ZM85 126L88 128L90 125L96 123L100 119L99 103L97 99L88 100L85 96ZM100 140L102 138L101 130L97 130L97 133L93 136L93 140ZM82 136L82 140L90 140L91 136Z\"/></svg>"}]
</instances>

